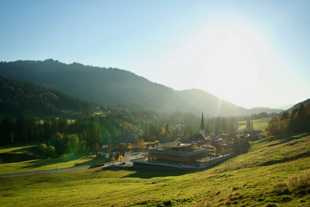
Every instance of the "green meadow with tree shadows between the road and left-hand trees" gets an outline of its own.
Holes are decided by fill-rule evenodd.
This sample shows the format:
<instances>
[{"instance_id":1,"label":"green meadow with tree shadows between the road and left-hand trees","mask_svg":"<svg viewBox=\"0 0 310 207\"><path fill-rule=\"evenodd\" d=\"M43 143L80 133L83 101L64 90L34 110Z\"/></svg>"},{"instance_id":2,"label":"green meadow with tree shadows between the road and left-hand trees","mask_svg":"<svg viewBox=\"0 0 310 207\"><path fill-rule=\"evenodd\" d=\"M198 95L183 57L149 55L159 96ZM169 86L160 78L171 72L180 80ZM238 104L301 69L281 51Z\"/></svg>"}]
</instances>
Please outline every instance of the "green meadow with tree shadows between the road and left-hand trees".
<instances>
[{"instance_id":1,"label":"green meadow with tree shadows between the road and left-hand trees","mask_svg":"<svg viewBox=\"0 0 310 207\"><path fill-rule=\"evenodd\" d=\"M36 151L37 146L38 143L0 147L0 174L55 169L56 163L57 169L60 169L101 164L107 161L86 152L72 154L64 158L41 159Z\"/></svg>"}]
</instances>

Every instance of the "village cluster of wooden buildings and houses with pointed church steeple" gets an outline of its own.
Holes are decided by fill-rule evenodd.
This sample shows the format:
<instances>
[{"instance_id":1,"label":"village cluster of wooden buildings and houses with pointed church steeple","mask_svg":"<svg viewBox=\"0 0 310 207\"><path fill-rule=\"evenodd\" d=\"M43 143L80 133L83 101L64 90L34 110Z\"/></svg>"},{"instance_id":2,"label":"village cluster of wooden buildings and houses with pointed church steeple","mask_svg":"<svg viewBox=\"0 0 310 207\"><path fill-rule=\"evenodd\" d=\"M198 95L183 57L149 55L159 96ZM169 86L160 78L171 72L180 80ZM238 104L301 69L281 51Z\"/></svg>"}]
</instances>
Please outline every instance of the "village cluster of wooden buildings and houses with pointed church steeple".
<instances>
[{"instance_id":1,"label":"village cluster of wooden buildings and houses with pointed church steeple","mask_svg":"<svg viewBox=\"0 0 310 207\"><path fill-rule=\"evenodd\" d=\"M144 149L136 148L138 141L130 136L103 137L103 146L97 156L117 160L125 156L128 148L144 151L144 158L131 159L133 165L160 165L178 168L208 168L240 153L241 147L248 147L249 141L256 140L262 131L236 131L230 134L212 135L205 133L203 112L200 131L192 136L160 138L158 143L148 144Z\"/></svg>"}]
</instances>

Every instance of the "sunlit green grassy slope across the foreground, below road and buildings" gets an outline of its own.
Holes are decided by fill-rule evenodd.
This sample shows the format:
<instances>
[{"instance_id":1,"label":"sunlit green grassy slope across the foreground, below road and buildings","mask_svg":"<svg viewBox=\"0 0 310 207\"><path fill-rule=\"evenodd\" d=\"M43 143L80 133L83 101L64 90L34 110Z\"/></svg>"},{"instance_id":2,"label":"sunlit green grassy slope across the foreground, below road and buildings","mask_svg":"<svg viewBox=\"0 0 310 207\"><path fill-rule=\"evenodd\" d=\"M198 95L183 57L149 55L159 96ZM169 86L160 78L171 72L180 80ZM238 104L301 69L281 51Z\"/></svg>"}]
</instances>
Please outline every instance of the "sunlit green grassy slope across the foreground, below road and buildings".
<instances>
[{"instance_id":1,"label":"sunlit green grassy slope across the foreground, below road and buildings","mask_svg":"<svg viewBox=\"0 0 310 207\"><path fill-rule=\"evenodd\" d=\"M310 133L251 142L212 169L132 167L1 179L0 206L310 206Z\"/></svg>"}]
</instances>

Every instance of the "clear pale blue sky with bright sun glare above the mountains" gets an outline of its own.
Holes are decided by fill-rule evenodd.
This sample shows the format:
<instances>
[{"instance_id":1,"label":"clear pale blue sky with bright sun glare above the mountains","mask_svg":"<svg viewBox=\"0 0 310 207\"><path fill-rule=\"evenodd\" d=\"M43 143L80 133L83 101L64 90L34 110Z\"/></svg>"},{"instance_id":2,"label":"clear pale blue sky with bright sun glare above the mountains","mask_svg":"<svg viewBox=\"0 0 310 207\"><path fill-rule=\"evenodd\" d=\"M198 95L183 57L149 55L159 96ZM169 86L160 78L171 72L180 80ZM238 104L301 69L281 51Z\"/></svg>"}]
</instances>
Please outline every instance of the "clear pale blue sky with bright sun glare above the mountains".
<instances>
[{"instance_id":1,"label":"clear pale blue sky with bright sun glare above the mountains","mask_svg":"<svg viewBox=\"0 0 310 207\"><path fill-rule=\"evenodd\" d=\"M281 108L310 98L309 11L308 0L0 0L0 61L119 68Z\"/></svg>"}]
</instances>

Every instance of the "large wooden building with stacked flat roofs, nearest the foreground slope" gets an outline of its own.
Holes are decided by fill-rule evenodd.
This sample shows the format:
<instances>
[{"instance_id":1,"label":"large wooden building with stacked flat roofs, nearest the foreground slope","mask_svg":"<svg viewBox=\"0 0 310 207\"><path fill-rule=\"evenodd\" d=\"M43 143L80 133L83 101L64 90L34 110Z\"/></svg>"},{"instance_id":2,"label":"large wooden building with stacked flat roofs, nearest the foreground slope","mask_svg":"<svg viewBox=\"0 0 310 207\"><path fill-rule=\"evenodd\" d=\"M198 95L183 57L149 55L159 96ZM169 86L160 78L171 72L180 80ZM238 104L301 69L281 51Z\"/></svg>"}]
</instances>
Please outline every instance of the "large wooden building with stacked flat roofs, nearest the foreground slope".
<instances>
[{"instance_id":1,"label":"large wooden building with stacked flat roofs, nearest the foreground slope","mask_svg":"<svg viewBox=\"0 0 310 207\"><path fill-rule=\"evenodd\" d=\"M149 162L184 164L197 166L198 159L208 156L207 149L197 148L196 144L168 142L159 144L158 148L145 150Z\"/></svg>"}]
</instances>

